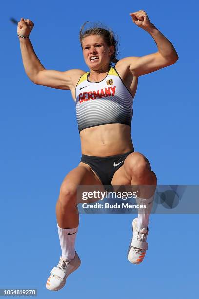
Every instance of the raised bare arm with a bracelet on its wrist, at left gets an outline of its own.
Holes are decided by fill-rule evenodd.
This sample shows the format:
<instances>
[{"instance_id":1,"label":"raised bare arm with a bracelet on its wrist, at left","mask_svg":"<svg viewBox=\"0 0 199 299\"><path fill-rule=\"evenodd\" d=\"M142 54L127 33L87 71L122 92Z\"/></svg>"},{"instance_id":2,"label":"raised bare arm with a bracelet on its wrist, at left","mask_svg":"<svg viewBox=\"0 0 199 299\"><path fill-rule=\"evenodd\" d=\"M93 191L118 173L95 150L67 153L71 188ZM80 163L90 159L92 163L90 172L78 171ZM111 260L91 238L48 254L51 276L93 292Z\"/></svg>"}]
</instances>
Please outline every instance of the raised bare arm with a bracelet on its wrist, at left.
<instances>
[{"instance_id":1,"label":"raised bare arm with a bracelet on its wrist, at left","mask_svg":"<svg viewBox=\"0 0 199 299\"><path fill-rule=\"evenodd\" d=\"M71 89L75 83L74 78L80 77L84 72L78 69L65 72L45 69L36 56L30 39L26 38L30 35L33 26L34 24L31 20L23 18L21 18L17 26L23 65L27 76L38 85L58 89ZM23 37L20 37L20 35Z\"/></svg>"}]
</instances>

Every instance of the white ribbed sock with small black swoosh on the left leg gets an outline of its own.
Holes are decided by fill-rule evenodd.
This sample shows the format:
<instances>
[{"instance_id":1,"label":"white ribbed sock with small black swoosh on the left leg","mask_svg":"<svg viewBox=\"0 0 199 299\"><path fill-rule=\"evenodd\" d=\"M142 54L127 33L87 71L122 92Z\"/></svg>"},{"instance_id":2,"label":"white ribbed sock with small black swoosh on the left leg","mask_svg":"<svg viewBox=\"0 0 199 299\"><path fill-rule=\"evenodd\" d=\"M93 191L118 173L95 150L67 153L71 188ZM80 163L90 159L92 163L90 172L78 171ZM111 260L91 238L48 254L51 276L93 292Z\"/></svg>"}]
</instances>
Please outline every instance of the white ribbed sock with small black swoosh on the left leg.
<instances>
[{"instance_id":1,"label":"white ribbed sock with small black swoosh on the left leg","mask_svg":"<svg viewBox=\"0 0 199 299\"><path fill-rule=\"evenodd\" d=\"M58 235L60 239L62 257L66 261L69 261L75 257L75 237L77 231L78 226L72 229L62 229L58 226Z\"/></svg>"}]
</instances>

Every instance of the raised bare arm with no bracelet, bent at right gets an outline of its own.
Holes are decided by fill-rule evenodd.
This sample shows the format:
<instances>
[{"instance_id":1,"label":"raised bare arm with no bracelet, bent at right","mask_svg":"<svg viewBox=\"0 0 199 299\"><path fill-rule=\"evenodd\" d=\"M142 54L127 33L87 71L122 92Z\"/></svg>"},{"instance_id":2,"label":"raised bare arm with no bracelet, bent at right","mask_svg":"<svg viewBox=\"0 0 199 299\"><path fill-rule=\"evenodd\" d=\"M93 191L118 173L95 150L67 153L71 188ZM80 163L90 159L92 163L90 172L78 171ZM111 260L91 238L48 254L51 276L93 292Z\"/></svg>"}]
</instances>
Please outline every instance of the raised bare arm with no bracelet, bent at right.
<instances>
[{"instance_id":1,"label":"raised bare arm with no bracelet, bent at right","mask_svg":"<svg viewBox=\"0 0 199 299\"><path fill-rule=\"evenodd\" d=\"M122 64L130 68L132 74L139 77L174 64L178 55L172 43L150 22L145 11L131 13L132 21L138 27L147 31L154 39L158 51L142 57L126 57L121 59Z\"/></svg>"}]
</instances>

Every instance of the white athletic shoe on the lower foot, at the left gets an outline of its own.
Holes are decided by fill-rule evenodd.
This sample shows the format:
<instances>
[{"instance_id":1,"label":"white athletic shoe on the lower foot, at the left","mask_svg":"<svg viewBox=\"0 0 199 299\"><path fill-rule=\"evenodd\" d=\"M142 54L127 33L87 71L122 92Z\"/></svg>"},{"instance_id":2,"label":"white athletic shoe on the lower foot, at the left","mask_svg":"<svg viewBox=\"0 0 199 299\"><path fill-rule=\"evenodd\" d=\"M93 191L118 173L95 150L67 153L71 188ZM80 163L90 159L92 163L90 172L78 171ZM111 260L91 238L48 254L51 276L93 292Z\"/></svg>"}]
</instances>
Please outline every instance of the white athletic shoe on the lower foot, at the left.
<instances>
[{"instance_id":1,"label":"white athletic shoe on the lower foot, at the left","mask_svg":"<svg viewBox=\"0 0 199 299\"><path fill-rule=\"evenodd\" d=\"M51 275L46 283L46 288L51 291L58 291L63 288L66 283L66 278L69 276L69 274L75 271L80 264L81 261L76 252L74 259L71 259L67 262L60 257L57 267L54 267L50 272Z\"/></svg>"}]
</instances>

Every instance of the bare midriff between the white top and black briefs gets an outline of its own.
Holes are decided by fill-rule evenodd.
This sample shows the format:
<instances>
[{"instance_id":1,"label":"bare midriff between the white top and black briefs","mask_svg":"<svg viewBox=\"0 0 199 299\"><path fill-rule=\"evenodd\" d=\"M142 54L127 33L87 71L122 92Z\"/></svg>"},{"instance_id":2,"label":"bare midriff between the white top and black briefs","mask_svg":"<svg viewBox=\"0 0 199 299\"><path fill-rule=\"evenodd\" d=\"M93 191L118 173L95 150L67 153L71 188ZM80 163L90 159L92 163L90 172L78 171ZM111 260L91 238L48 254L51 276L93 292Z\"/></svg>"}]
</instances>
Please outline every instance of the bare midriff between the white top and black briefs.
<instances>
[{"instance_id":1,"label":"bare midriff between the white top and black briefs","mask_svg":"<svg viewBox=\"0 0 199 299\"><path fill-rule=\"evenodd\" d=\"M123 124L106 124L80 132L82 154L107 157L133 150L131 128Z\"/></svg>"}]
</instances>

